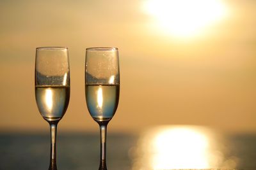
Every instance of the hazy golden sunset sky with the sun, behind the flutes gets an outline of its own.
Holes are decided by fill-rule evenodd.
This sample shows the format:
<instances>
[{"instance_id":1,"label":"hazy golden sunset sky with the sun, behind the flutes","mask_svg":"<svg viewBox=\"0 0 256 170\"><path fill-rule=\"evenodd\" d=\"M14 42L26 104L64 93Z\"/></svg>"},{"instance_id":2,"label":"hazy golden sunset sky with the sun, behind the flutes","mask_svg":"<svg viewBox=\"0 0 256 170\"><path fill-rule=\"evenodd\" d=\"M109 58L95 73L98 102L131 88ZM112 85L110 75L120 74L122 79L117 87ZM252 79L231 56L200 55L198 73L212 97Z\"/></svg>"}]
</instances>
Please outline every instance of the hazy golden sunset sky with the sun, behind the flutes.
<instances>
[{"instance_id":1,"label":"hazy golden sunset sky with the sun, behind the flutes","mask_svg":"<svg viewBox=\"0 0 256 170\"><path fill-rule=\"evenodd\" d=\"M252 0L0 1L0 130L49 131L35 102L35 48L67 46L71 96L58 129L98 131L85 48L115 46L121 90L109 131L256 132L255 9Z\"/></svg>"}]
</instances>

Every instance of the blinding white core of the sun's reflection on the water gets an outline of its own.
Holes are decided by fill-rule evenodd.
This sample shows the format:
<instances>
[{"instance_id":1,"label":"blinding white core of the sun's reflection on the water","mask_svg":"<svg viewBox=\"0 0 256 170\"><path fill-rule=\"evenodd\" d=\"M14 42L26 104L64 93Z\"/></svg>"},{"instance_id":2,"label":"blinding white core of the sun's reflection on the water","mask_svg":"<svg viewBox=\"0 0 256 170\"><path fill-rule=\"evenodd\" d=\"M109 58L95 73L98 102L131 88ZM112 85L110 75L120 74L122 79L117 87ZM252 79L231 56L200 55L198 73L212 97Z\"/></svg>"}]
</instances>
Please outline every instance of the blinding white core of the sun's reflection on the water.
<instances>
[{"instance_id":1,"label":"blinding white core of the sun's reflection on the water","mask_svg":"<svg viewBox=\"0 0 256 170\"><path fill-rule=\"evenodd\" d=\"M209 168L209 141L198 131L184 127L165 129L155 136L153 143L153 169Z\"/></svg>"}]
</instances>

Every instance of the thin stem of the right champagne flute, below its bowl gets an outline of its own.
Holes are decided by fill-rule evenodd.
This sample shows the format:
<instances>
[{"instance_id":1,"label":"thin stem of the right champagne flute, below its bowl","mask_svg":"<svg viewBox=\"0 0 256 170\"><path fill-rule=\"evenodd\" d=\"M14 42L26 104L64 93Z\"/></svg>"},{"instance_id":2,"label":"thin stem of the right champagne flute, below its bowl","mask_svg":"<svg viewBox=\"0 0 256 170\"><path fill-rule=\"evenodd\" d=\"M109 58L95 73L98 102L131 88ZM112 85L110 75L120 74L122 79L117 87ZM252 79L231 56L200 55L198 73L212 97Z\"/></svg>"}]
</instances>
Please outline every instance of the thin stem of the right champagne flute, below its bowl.
<instances>
[{"instance_id":1,"label":"thin stem of the right champagne flute, below its bowl","mask_svg":"<svg viewBox=\"0 0 256 170\"><path fill-rule=\"evenodd\" d=\"M99 170L107 170L106 164L106 135L108 122L100 122L100 167Z\"/></svg>"}]
</instances>

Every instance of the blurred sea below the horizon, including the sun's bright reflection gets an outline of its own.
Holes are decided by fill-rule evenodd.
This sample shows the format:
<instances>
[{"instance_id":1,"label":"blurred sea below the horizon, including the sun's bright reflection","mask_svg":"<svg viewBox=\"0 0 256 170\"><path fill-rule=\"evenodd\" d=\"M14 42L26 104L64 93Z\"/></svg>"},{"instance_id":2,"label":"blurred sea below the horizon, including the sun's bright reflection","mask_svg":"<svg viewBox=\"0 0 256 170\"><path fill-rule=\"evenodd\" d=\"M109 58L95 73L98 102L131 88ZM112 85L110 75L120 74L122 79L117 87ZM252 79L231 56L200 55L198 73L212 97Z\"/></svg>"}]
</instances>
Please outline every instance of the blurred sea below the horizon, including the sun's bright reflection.
<instances>
[{"instance_id":1,"label":"blurred sea below the horizon, including the sun's bright reflection","mask_svg":"<svg viewBox=\"0 0 256 170\"><path fill-rule=\"evenodd\" d=\"M108 132L108 169L256 170L256 134L218 134L218 139L211 136L210 140L186 128L169 130L140 134ZM99 169L99 153L99 133L58 133L59 170ZM50 136L46 132L0 133L0 170L46 170L49 157Z\"/></svg>"}]
</instances>

